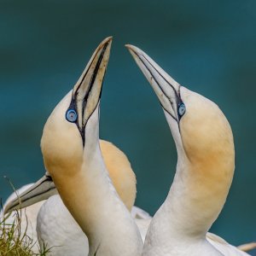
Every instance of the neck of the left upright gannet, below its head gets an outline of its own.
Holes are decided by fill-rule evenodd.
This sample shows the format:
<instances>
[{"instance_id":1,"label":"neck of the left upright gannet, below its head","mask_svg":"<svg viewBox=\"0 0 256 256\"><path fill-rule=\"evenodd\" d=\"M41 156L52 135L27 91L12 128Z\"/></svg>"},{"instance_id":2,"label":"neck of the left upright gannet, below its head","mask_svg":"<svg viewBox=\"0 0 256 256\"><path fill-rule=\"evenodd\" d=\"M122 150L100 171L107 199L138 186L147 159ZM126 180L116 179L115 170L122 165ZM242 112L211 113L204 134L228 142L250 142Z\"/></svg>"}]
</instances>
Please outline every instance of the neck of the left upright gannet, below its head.
<instances>
[{"instance_id":1,"label":"neck of the left upright gannet, below its head","mask_svg":"<svg viewBox=\"0 0 256 256\"><path fill-rule=\"evenodd\" d=\"M61 170L60 177L55 171L53 179L65 205L88 236L89 255L140 255L143 244L139 231L113 188L102 159L97 120L98 108L85 128L80 169ZM73 176L68 175L70 172ZM125 239L120 240L120 236Z\"/></svg>"}]
</instances>

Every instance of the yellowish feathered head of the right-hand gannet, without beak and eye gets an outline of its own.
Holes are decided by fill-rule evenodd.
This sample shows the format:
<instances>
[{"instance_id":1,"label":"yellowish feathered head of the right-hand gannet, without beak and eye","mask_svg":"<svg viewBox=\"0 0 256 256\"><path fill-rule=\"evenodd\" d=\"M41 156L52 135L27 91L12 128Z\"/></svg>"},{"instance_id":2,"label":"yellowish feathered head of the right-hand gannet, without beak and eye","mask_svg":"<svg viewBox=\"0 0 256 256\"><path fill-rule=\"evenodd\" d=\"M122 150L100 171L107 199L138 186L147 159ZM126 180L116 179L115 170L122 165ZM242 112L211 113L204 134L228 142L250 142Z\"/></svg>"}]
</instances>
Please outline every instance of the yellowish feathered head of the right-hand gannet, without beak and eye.
<instances>
[{"instance_id":1,"label":"yellowish feathered head of the right-hand gannet, without beak and eye","mask_svg":"<svg viewBox=\"0 0 256 256\"><path fill-rule=\"evenodd\" d=\"M190 90L182 92L187 112L180 120L180 132L193 175L201 176L208 188L222 183L228 190L235 169L230 124L214 102Z\"/></svg>"}]
</instances>

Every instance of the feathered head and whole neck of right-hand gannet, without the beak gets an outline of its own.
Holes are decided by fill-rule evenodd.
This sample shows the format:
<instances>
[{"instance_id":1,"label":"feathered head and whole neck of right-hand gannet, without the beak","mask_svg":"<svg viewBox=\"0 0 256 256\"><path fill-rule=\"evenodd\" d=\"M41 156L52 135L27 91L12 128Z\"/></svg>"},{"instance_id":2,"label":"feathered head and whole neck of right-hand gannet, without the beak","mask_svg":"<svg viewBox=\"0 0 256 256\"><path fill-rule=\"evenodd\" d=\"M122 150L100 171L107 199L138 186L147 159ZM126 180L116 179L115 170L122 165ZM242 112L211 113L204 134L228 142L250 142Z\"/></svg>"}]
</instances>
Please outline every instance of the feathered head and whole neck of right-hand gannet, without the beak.
<instances>
[{"instance_id":1,"label":"feathered head and whole neck of right-hand gannet, without the beak","mask_svg":"<svg viewBox=\"0 0 256 256\"><path fill-rule=\"evenodd\" d=\"M173 255L179 255L175 250L185 250L189 244L195 246L195 255L204 255L196 248L200 252L205 250L207 255L210 252L218 255L217 249L206 240L206 234L218 218L232 182L235 168L232 131L213 102L183 87L180 93L187 113L178 127L166 113L177 146L176 175L166 201L149 227L144 248L150 252L152 247L168 248ZM163 227L161 223L166 225ZM160 239L155 239L156 236ZM151 255L147 250L145 255Z\"/></svg>"}]
</instances>

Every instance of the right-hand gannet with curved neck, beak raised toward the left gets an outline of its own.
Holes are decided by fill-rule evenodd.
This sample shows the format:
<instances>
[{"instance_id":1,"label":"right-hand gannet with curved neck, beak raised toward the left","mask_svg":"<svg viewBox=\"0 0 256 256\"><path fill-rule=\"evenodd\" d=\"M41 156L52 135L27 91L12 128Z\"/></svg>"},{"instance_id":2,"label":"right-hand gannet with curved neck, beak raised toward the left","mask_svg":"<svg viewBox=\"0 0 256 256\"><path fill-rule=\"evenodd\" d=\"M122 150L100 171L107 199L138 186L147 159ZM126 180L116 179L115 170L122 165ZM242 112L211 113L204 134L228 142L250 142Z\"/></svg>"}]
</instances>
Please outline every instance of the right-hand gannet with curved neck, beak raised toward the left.
<instances>
[{"instance_id":1,"label":"right-hand gannet with curved neck, beak raised toward the left","mask_svg":"<svg viewBox=\"0 0 256 256\"><path fill-rule=\"evenodd\" d=\"M143 255L248 255L218 236L207 237L235 169L233 135L224 113L178 84L143 50L126 46L158 96L177 148L176 174L148 227Z\"/></svg>"}]
</instances>

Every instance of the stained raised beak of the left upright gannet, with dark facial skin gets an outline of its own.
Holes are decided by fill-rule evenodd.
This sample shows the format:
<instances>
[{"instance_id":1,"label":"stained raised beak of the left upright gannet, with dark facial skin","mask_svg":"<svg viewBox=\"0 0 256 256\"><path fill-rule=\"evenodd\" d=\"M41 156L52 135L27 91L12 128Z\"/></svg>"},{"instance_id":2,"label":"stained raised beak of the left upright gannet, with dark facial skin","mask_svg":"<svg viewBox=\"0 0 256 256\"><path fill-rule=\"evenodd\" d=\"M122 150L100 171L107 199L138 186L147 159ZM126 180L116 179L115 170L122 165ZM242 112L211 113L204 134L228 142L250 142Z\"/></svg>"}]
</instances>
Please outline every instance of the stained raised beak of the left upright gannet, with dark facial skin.
<instances>
[{"instance_id":1,"label":"stained raised beak of the left upright gannet, with dark facial skin","mask_svg":"<svg viewBox=\"0 0 256 256\"><path fill-rule=\"evenodd\" d=\"M73 87L72 100L67 109L66 118L78 126L83 144L85 125L101 98L102 83L108 66L111 43L112 37L102 41ZM77 117L75 121L73 121L73 114Z\"/></svg>"}]
</instances>

